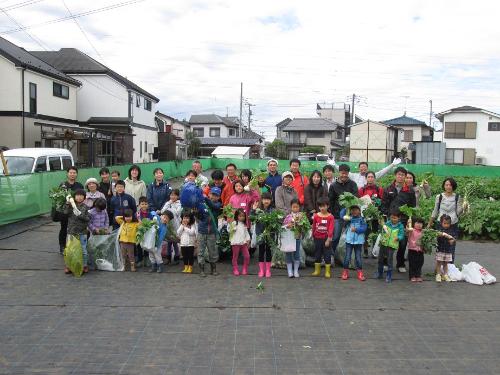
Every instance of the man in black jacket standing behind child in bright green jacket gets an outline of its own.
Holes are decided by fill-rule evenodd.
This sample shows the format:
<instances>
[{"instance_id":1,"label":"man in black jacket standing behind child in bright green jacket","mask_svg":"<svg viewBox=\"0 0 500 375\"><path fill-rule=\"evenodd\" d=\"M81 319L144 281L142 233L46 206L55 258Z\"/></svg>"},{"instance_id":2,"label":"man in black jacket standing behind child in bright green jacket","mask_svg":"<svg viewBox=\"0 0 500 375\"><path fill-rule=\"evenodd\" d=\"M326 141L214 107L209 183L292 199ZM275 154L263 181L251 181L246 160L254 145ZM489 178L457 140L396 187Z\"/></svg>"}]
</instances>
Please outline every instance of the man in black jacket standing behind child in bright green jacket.
<instances>
[{"instance_id":1,"label":"man in black jacket standing behind child in bright green jacket","mask_svg":"<svg viewBox=\"0 0 500 375\"><path fill-rule=\"evenodd\" d=\"M405 204L409 207L415 207L417 205L417 199L415 197L415 191L411 186L405 184L406 169L403 167L398 167L394 171L394 181L384 190L384 197L382 198L382 213L389 216L389 214L399 207ZM401 215L401 223L406 228L408 223L408 217L406 215ZM399 241L399 248L396 254L396 268L399 272L406 272L405 268L405 251L406 244L408 242L407 237L402 241Z\"/></svg>"}]
</instances>

